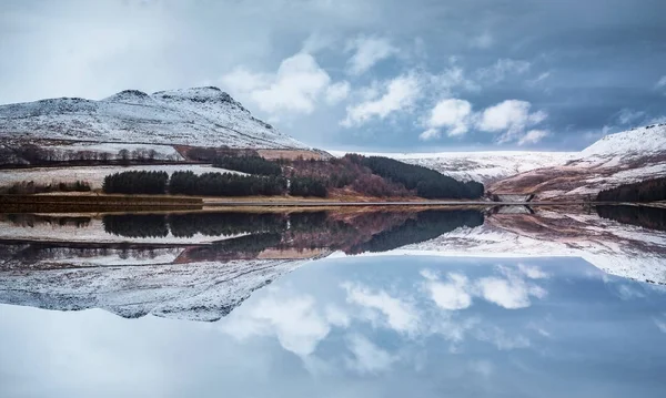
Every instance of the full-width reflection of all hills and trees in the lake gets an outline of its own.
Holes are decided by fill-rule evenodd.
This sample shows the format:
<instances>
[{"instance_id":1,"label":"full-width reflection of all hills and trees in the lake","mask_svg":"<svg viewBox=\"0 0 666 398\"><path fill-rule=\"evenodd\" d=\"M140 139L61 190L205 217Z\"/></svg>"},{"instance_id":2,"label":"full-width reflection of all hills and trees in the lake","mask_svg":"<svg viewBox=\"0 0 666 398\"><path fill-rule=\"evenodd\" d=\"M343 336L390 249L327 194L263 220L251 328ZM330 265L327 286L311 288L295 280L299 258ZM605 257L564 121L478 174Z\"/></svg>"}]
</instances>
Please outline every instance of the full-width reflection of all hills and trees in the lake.
<instances>
[{"instance_id":1,"label":"full-width reflection of all hills and trees in the lake","mask_svg":"<svg viewBox=\"0 0 666 398\"><path fill-rule=\"evenodd\" d=\"M31 232L33 238L72 227L84 232L79 237L97 236L97 229L107 234L104 228L127 236L124 242L4 241L0 302L63 310L104 308L124 317L214 320L307 259L333 251L396 248L391 253L575 256L615 275L666 282L663 233L586 213L537 211L485 218L481 212L460 210L123 215L105 216L103 224L97 218L4 218L3 225L22 228L23 236ZM150 241L164 228L171 237L181 236L179 243ZM210 242L191 238L206 234Z\"/></svg>"}]
</instances>

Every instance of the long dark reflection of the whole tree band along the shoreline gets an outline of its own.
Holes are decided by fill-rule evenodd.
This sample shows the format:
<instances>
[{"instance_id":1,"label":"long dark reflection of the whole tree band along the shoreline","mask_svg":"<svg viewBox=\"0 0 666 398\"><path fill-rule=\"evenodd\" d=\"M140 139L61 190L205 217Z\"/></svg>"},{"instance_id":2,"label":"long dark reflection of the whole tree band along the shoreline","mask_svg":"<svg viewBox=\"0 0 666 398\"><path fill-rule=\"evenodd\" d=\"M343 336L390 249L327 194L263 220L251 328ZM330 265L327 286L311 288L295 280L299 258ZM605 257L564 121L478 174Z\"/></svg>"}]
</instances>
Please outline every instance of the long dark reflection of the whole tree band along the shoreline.
<instances>
[{"instance_id":1,"label":"long dark reflection of the whole tree band along the shoreline","mask_svg":"<svg viewBox=\"0 0 666 398\"><path fill-rule=\"evenodd\" d=\"M219 257L219 253L224 251L259 253L269 247L332 248L346 253L383 252L428 241L461 226L480 226L483 220L483 214L474 210L431 210L420 213L383 211L359 214L303 212L107 215L103 224L108 233L127 237L163 237L169 231L173 236L183 238L195 234L254 234L219 242L210 249L200 251L202 254L218 253L212 257Z\"/></svg>"}]
</instances>

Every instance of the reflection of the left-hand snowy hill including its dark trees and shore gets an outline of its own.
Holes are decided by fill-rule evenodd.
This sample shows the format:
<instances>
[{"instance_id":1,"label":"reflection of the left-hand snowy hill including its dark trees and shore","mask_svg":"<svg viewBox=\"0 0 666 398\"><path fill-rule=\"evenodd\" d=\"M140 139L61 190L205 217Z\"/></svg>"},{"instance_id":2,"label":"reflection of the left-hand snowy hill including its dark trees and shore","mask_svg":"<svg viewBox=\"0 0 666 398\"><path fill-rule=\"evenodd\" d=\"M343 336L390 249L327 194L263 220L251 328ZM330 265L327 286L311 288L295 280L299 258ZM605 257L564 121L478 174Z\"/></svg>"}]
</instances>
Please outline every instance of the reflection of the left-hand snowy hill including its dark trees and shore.
<instances>
[{"instance_id":1,"label":"reflection of the left-hand snowy hill including its dark trees and shore","mask_svg":"<svg viewBox=\"0 0 666 398\"><path fill-rule=\"evenodd\" d=\"M6 222L33 228L28 231L32 238L41 239L61 224L30 215ZM303 259L332 251L391 249L482 224L476 211L107 215L102 223L68 222L62 227L97 225L127 242L0 244L0 302L61 310L104 308L129 318L153 314L215 320ZM189 243L195 235L226 238ZM182 243L140 241L165 236L182 237Z\"/></svg>"}]
</instances>

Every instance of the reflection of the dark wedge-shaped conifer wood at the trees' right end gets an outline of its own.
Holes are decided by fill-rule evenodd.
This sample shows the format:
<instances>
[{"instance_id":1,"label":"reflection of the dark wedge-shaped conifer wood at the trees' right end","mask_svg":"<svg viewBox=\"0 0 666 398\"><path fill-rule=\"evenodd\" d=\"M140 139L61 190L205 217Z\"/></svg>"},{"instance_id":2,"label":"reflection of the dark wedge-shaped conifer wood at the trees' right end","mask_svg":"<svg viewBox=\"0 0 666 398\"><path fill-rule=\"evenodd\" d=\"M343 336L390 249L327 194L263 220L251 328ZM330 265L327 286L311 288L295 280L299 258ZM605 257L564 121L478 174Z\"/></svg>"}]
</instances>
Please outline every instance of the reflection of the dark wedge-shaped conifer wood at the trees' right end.
<instances>
[{"instance_id":1,"label":"reflection of the dark wedge-shaped conifer wood at the trees' right end","mask_svg":"<svg viewBox=\"0 0 666 398\"><path fill-rule=\"evenodd\" d=\"M433 239L462 226L483 225L477 211L424 211L392 229L374 235L369 242L354 246L351 253L386 252L397 247Z\"/></svg>"}]
</instances>

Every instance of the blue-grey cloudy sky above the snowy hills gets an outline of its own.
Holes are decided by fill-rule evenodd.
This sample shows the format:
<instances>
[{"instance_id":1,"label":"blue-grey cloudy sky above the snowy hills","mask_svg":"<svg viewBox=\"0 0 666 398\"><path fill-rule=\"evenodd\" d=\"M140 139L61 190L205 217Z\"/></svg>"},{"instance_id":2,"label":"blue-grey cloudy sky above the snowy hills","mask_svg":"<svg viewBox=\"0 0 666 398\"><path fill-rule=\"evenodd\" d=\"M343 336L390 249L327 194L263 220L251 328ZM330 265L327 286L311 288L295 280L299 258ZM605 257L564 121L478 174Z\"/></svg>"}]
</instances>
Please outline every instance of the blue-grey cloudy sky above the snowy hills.
<instances>
[{"instance_id":1,"label":"blue-grey cloudy sky above the snowy hills","mask_svg":"<svg viewBox=\"0 0 666 398\"><path fill-rule=\"evenodd\" d=\"M0 103L218 85L311 144L579 150L666 121L663 0L4 0Z\"/></svg>"}]
</instances>

